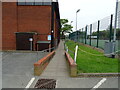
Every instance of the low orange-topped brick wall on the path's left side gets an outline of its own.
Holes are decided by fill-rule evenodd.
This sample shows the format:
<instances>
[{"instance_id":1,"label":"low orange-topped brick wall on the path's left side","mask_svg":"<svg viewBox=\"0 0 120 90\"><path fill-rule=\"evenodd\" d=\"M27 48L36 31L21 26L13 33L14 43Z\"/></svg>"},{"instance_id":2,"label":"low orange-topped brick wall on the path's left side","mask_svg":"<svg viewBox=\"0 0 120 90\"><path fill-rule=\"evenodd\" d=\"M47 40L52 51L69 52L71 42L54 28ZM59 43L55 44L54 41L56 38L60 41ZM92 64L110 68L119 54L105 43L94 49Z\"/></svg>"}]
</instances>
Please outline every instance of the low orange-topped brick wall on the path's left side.
<instances>
[{"instance_id":1,"label":"low orange-topped brick wall on the path's left side","mask_svg":"<svg viewBox=\"0 0 120 90\"><path fill-rule=\"evenodd\" d=\"M47 56L34 63L34 75L40 76L44 71L45 67L49 64L50 59L55 55L55 51L51 52Z\"/></svg>"}]
</instances>

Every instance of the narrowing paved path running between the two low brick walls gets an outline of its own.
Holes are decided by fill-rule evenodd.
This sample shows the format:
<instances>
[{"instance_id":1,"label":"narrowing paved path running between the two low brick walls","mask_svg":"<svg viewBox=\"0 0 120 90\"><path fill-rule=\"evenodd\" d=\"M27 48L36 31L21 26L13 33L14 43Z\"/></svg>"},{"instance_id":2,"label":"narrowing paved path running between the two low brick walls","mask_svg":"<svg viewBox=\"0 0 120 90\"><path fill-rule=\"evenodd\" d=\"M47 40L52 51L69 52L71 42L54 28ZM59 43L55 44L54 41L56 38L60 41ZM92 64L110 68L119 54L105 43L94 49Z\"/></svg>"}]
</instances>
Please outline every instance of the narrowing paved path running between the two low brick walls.
<instances>
[{"instance_id":1,"label":"narrowing paved path running between the two low brick walls","mask_svg":"<svg viewBox=\"0 0 120 90\"><path fill-rule=\"evenodd\" d=\"M63 42L59 44L54 58L51 60L41 77L69 77L69 70L64 57Z\"/></svg>"}]
</instances>

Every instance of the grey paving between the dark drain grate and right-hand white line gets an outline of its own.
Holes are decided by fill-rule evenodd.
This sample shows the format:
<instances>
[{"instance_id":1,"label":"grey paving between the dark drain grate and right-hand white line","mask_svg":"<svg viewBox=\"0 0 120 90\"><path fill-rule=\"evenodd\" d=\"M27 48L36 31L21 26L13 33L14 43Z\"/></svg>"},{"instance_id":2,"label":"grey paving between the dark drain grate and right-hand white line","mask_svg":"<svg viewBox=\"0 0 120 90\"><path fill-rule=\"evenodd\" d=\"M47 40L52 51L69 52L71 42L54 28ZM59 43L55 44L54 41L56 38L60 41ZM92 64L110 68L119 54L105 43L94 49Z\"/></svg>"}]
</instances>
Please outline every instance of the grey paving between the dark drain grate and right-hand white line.
<instances>
[{"instance_id":1,"label":"grey paving between the dark drain grate and right-hand white line","mask_svg":"<svg viewBox=\"0 0 120 90\"><path fill-rule=\"evenodd\" d=\"M92 88L101 78L58 79L57 88Z\"/></svg>"}]
</instances>

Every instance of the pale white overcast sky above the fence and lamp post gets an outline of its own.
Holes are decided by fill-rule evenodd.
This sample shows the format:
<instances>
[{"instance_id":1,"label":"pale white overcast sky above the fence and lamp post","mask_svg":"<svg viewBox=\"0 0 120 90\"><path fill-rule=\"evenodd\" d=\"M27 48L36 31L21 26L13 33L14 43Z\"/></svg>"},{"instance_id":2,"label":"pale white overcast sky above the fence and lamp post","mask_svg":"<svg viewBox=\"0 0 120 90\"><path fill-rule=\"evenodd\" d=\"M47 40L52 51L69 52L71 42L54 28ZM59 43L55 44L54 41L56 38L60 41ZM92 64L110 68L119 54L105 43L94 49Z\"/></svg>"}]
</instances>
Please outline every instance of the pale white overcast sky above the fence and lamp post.
<instances>
[{"instance_id":1,"label":"pale white overcast sky above the fence and lamp post","mask_svg":"<svg viewBox=\"0 0 120 90\"><path fill-rule=\"evenodd\" d=\"M73 21L76 26L76 11L78 13L78 29L94 23L115 13L116 0L59 0L60 17ZM70 23L69 22L69 23Z\"/></svg>"}]
</instances>

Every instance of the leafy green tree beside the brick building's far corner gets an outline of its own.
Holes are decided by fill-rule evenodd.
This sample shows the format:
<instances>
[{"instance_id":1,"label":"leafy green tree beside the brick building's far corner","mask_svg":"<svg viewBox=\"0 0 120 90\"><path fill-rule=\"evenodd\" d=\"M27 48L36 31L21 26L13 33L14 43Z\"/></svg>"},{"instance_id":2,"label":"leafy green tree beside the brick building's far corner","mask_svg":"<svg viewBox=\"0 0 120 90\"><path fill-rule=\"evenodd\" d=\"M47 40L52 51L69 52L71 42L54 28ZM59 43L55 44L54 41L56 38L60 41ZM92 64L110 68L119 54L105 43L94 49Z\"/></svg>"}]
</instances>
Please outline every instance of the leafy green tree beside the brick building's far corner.
<instances>
[{"instance_id":1,"label":"leafy green tree beside the brick building's far corner","mask_svg":"<svg viewBox=\"0 0 120 90\"><path fill-rule=\"evenodd\" d=\"M61 35L62 37L65 36L66 33L71 33L72 32L72 26L68 24L68 19L61 19Z\"/></svg>"}]
</instances>

